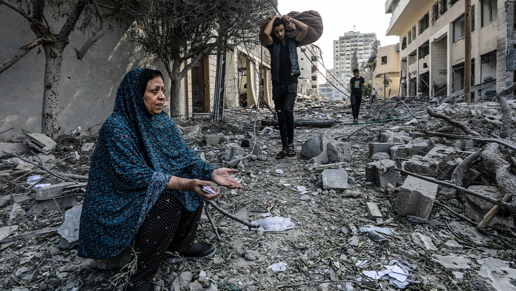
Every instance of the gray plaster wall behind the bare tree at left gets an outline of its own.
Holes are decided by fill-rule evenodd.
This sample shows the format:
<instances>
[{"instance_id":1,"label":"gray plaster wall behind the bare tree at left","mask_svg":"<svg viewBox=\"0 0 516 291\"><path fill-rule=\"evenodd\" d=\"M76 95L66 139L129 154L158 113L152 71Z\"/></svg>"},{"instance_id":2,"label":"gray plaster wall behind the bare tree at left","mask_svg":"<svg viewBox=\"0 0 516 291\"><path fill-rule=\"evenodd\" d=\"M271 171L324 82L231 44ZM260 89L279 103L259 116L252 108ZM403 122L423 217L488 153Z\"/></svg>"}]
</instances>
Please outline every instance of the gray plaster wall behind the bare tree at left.
<instances>
[{"instance_id":1,"label":"gray plaster wall behind the bare tree at left","mask_svg":"<svg viewBox=\"0 0 516 291\"><path fill-rule=\"evenodd\" d=\"M47 20L52 19L47 16ZM60 23L52 24L55 31L59 31ZM82 60L78 60L74 49L80 49L89 35L91 30L89 34L74 31L65 49L59 82L59 125L62 133L69 133L78 126L88 128L97 125L96 130L100 129L112 112L118 85L128 71L153 64L166 73L159 61L145 56L131 42L126 31L117 25L97 41ZM0 62L34 39L36 37L28 21L0 5ZM33 49L0 74L0 132L14 127L14 130L0 135L0 139L22 134L22 130L41 132L45 54L42 47L39 54L38 51L38 47ZM170 88L167 76L165 86Z\"/></svg>"}]
</instances>

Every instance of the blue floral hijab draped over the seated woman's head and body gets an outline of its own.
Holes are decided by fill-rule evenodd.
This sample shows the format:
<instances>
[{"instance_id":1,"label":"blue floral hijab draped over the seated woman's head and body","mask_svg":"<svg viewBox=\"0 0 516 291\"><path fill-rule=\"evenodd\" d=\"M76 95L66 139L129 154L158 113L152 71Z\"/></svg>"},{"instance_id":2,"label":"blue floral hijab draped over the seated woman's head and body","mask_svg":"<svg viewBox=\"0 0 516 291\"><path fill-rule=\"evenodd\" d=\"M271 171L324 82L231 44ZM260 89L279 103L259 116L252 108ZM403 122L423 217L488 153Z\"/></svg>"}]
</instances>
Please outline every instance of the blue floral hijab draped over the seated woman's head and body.
<instances>
[{"instance_id":1,"label":"blue floral hijab draped over the seated woman's head and body","mask_svg":"<svg viewBox=\"0 0 516 291\"><path fill-rule=\"evenodd\" d=\"M165 187L172 176L209 181L215 169L188 147L164 111L148 114L142 92L147 84L140 82L143 70L124 76L113 113L100 130L80 217L79 256L121 253L164 191L195 211L201 197Z\"/></svg>"}]
</instances>

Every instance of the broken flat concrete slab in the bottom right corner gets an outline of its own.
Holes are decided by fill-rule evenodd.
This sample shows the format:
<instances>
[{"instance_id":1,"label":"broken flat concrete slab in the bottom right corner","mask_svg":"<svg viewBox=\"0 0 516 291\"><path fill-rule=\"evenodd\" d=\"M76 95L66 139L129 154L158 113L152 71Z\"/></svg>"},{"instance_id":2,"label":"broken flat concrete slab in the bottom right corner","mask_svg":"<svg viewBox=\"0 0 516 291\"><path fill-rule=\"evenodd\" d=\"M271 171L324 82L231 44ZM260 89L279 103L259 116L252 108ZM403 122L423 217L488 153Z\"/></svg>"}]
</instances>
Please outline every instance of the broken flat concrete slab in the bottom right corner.
<instances>
[{"instance_id":1,"label":"broken flat concrete slab in the bottom right corner","mask_svg":"<svg viewBox=\"0 0 516 291\"><path fill-rule=\"evenodd\" d=\"M482 264L477 274L477 291L516 291L516 269L509 268L509 262L497 258L477 260Z\"/></svg>"}]
</instances>

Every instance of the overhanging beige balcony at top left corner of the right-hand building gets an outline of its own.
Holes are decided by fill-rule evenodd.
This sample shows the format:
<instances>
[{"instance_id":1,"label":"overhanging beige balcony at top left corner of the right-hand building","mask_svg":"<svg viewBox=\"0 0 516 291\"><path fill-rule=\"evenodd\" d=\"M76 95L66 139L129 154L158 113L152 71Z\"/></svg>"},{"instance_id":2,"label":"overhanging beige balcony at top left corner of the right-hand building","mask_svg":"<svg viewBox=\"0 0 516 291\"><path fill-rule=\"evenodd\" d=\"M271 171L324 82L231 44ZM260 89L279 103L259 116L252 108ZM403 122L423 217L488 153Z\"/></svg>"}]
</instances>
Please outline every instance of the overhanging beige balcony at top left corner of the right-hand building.
<instances>
[{"instance_id":1,"label":"overhanging beige balcony at top left corner of the right-hand building","mask_svg":"<svg viewBox=\"0 0 516 291\"><path fill-rule=\"evenodd\" d=\"M408 27L412 27L418 19L420 10L428 5L427 1L422 0L399 0L397 5L393 7L394 0L385 2L385 13L392 13L391 22L387 29L387 36L400 36L408 31ZM405 31L407 30L407 31Z\"/></svg>"}]
</instances>

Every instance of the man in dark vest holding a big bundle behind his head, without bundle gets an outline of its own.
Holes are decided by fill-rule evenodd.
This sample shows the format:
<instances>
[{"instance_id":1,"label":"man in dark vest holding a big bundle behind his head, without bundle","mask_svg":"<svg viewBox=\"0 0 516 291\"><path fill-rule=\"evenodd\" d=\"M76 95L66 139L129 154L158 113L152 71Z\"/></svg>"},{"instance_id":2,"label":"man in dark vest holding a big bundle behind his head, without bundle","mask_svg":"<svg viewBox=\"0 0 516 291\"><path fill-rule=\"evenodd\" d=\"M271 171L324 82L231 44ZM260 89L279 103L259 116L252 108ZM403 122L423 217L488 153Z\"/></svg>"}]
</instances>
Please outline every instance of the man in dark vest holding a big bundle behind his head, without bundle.
<instances>
[{"instance_id":1,"label":"man in dark vest holding a big bundle behind his head, without bundle","mask_svg":"<svg viewBox=\"0 0 516 291\"><path fill-rule=\"evenodd\" d=\"M307 35L308 26L298 20L292 22L299 34L291 39L285 34L282 15L273 17L263 31L265 44L270 52L272 100L276 107L282 149L277 159L294 157L294 103L297 96L297 77L301 75L297 58L297 45Z\"/></svg>"}]
</instances>

